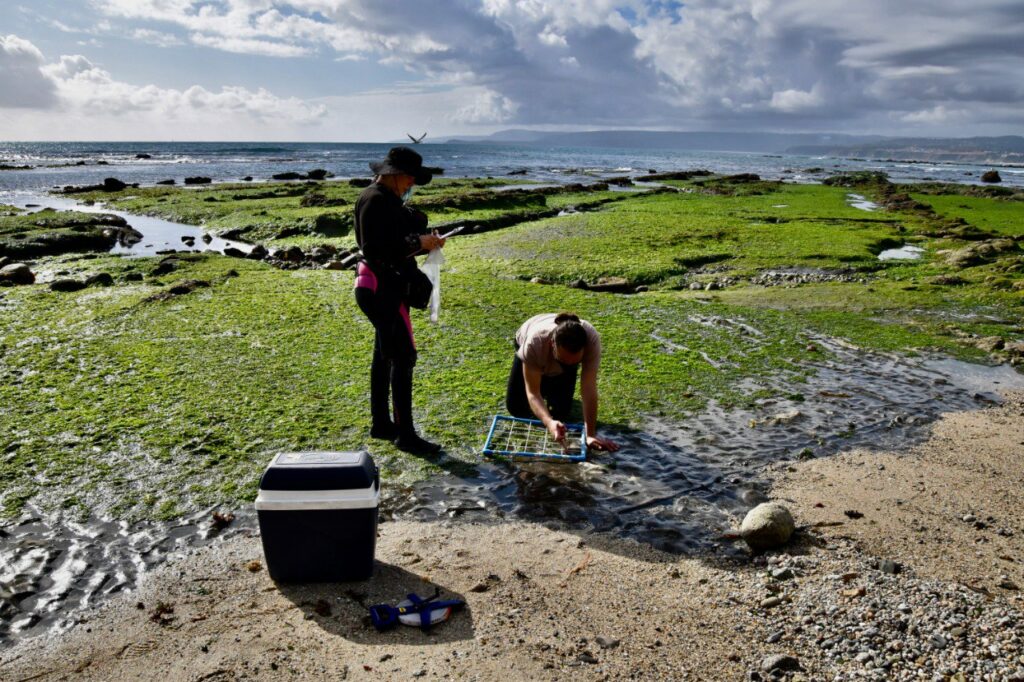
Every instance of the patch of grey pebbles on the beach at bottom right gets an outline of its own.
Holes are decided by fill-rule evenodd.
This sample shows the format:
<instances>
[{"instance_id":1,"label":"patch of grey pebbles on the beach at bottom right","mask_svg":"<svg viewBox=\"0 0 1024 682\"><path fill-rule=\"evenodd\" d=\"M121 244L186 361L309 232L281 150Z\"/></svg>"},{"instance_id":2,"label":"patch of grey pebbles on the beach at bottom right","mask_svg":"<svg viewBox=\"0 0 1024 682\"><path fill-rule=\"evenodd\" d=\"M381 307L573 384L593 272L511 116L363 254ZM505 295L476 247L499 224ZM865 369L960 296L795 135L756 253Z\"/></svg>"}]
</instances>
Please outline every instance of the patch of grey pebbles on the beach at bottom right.
<instances>
[{"instance_id":1,"label":"patch of grey pebbles on the beach at bottom right","mask_svg":"<svg viewBox=\"0 0 1024 682\"><path fill-rule=\"evenodd\" d=\"M755 561L760 580L728 599L757 604L764 641L796 662L768 656L751 680L1024 680L1024 614L1005 597L919 578L850 541Z\"/></svg>"}]
</instances>

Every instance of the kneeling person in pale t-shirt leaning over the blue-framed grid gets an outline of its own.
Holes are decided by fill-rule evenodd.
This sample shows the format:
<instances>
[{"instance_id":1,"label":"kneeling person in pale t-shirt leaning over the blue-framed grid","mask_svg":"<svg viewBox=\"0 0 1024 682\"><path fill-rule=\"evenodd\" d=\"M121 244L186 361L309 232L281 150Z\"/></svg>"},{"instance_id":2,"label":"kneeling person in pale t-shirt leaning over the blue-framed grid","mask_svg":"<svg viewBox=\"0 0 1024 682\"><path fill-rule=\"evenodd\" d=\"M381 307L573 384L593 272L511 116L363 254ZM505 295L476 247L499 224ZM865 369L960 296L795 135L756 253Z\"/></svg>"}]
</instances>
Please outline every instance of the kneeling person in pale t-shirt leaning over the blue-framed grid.
<instances>
[{"instance_id":1,"label":"kneeling person in pale t-shirt leaning over the blue-framed grid","mask_svg":"<svg viewBox=\"0 0 1024 682\"><path fill-rule=\"evenodd\" d=\"M601 363L601 337L594 326L571 312L534 315L515 334L515 356L505 404L515 417L544 422L551 437L565 440L565 424L572 408L572 393L580 365L583 379L583 421L587 447L618 450L618 444L597 435L597 368Z\"/></svg>"}]
</instances>

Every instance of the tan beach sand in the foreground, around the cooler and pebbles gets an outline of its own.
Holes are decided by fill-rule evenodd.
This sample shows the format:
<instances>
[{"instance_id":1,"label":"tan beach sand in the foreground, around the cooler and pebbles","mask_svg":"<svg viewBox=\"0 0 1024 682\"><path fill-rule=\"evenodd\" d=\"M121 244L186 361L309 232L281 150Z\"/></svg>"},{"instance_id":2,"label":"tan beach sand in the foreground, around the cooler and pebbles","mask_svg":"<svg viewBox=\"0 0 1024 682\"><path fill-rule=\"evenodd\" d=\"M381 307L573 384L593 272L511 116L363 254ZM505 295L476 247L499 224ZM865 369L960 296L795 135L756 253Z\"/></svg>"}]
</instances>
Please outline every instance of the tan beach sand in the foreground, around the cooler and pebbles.
<instances>
[{"instance_id":1,"label":"tan beach sand in the foreground, around the cooler and pebbles","mask_svg":"<svg viewBox=\"0 0 1024 682\"><path fill-rule=\"evenodd\" d=\"M778 653L799 658L794 679L830 678L840 664L799 626L775 641L772 631L790 600L796 609L838 597L839 573L868 578L876 558L901 564L908 592L968 585L975 610L1024 607L1010 587L1024 584L1022 417L1017 392L944 416L904 453L776 465L772 497L809 527L786 552L753 561L679 558L520 521L394 521L381 525L372 581L279 589L252 563L262 561L258 539L236 537L163 565L70 633L0 653L0 678L717 680L745 678ZM798 577L773 587L766 569L782 563ZM365 623L366 604L435 586L469 606L430 634ZM782 595L778 607L765 606L769 592ZM173 612L160 616L159 602Z\"/></svg>"}]
</instances>

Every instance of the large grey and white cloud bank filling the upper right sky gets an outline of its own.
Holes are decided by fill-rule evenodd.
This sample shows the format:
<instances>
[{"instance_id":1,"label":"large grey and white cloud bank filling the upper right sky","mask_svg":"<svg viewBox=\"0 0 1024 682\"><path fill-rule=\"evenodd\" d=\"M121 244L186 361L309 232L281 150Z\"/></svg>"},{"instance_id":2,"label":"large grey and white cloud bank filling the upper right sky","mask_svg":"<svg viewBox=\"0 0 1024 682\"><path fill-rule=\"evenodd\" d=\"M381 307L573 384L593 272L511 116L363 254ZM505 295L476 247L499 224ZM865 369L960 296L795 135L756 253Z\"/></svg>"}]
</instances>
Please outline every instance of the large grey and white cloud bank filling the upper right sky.
<instances>
[{"instance_id":1,"label":"large grey and white cloud bank filling the upper right sky","mask_svg":"<svg viewBox=\"0 0 1024 682\"><path fill-rule=\"evenodd\" d=\"M479 108L459 108L467 121L488 120L490 111L493 120L526 125L865 129L898 122L939 132L959 112L979 125L1024 124L1020 0L93 4L108 17L184 30L211 49L366 56L432 83L494 93Z\"/></svg>"}]
</instances>

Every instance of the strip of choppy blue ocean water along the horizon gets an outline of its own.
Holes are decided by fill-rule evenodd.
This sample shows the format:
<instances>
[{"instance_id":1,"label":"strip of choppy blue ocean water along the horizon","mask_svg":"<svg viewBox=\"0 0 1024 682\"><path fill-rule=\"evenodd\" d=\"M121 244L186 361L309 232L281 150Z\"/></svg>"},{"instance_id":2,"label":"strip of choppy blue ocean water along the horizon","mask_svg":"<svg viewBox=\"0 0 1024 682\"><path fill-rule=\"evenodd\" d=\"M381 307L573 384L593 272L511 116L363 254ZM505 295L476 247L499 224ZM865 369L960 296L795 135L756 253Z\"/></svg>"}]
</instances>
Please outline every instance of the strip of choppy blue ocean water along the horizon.
<instances>
[{"instance_id":1,"label":"strip of choppy blue ocean water along the horizon","mask_svg":"<svg viewBox=\"0 0 1024 682\"><path fill-rule=\"evenodd\" d=\"M91 184L117 177L152 184L203 175L214 181L245 176L267 180L274 173L324 168L337 177L367 177L369 162L390 144L276 142L0 142L0 164L32 166L0 171L0 198L38 195L68 184ZM820 181L842 170L880 170L894 181L927 179L980 182L990 166L859 161L762 153L685 152L603 147L554 147L516 144L428 144L418 146L425 163L444 169L445 177L503 177L525 171L540 182L594 181L615 175L640 175L706 168L720 173L758 173L795 182ZM138 159L136 155L150 155ZM78 165L84 162L84 165ZM99 164L98 162L104 162ZM813 170L818 169L818 170ZM1024 186L1024 169L999 168L1002 184Z\"/></svg>"}]
</instances>

